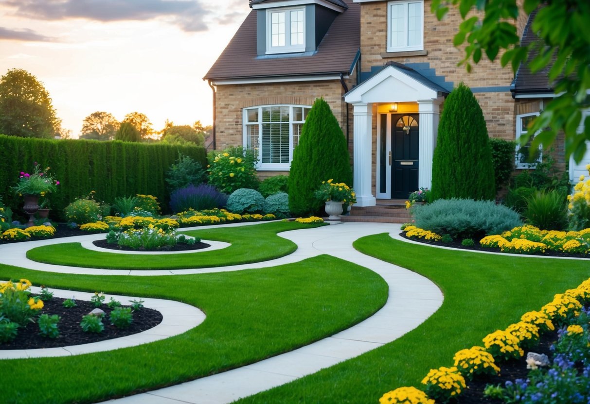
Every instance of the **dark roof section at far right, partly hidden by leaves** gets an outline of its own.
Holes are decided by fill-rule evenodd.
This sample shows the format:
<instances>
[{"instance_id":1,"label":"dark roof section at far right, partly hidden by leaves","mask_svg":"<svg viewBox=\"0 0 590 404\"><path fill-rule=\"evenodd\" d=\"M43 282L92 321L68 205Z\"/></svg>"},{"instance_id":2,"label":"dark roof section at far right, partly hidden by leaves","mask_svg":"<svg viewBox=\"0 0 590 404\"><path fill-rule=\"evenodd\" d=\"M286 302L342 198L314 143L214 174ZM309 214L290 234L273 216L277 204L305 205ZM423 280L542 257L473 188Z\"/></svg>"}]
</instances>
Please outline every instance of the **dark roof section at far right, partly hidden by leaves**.
<instances>
[{"instance_id":1,"label":"dark roof section at far right, partly hidden by leaves","mask_svg":"<svg viewBox=\"0 0 590 404\"><path fill-rule=\"evenodd\" d=\"M523 46L530 45L533 42L539 41L539 37L533 32L531 25L537 15L536 9L529 15L529 20L526 23L525 31L523 31L520 44ZM529 60L535 58L539 54L538 50L533 50L529 54ZM553 92L553 85L549 82L549 69L552 64L533 74L526 64L521 63L516 71L516 76L512 82L512 91L514 94L546 94Z\"/></svg>"}]
</instances>

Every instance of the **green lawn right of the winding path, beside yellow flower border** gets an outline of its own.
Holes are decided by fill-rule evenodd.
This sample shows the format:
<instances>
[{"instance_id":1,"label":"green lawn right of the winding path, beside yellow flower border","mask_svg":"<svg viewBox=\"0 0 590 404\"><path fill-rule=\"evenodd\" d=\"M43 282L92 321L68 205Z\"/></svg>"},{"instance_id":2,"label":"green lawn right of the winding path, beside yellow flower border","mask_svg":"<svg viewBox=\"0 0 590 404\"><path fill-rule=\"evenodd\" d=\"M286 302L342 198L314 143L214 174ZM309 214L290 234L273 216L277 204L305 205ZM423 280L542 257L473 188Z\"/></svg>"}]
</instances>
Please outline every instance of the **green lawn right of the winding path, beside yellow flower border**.
<instances>
[{"instance_id":1,"label":"green lawn right of the winding path, beside yellow flower border","mask_svg":"<svg viewBox=\"0 0 590 404\"><path fill-rule=\"evenodd\" d=\"M419 387L431 368L453 365L458 350L481 345L488 333L590 277L588 260L435 249L387 234L363 237L355 248L427 276L444 293L442 307L392 343L238 403L376 403L389 390Z\"/></svg>"}]
</instances>

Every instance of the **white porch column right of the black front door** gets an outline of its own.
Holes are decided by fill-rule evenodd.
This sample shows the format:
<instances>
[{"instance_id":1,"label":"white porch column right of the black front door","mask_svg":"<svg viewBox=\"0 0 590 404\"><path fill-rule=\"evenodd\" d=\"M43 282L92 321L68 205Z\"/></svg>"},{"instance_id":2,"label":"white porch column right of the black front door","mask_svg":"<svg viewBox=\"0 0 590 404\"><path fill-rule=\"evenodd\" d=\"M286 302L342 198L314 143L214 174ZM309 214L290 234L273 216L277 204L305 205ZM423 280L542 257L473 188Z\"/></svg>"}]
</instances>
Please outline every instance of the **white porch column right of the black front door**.
<instances>
[{"instance_id":1,"label":"white porch column right of the black front door","mask_svg":"<svg viewBox=\"0 0 590 404\"><path fill-rule=\"evenodd\" d=\"M441 100L418 100L420 147L418 149L418 187L432 187L432 157L437 145Z\"/></svg>"}]
</instances>

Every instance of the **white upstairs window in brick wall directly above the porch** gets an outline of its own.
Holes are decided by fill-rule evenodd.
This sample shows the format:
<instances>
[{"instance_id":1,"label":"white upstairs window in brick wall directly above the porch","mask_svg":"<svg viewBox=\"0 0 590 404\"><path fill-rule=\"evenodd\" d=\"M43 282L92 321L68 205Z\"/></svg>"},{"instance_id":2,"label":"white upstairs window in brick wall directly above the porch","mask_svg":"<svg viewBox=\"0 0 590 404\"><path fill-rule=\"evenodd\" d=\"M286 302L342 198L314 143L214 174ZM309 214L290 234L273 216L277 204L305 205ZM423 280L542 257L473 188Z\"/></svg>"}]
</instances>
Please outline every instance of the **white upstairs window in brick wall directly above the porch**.
<instances>
[{"instance_id":1,"label":"white upstairs window in brick wall directly above the porch","mask_svg":"<svg viewBox=\"0 0 590 404\"><path fill-rule=\"evenodd\" d=\"M424 50L424 0L389 2L387 25L388 52Z\"/></svg>"}]
</instances>

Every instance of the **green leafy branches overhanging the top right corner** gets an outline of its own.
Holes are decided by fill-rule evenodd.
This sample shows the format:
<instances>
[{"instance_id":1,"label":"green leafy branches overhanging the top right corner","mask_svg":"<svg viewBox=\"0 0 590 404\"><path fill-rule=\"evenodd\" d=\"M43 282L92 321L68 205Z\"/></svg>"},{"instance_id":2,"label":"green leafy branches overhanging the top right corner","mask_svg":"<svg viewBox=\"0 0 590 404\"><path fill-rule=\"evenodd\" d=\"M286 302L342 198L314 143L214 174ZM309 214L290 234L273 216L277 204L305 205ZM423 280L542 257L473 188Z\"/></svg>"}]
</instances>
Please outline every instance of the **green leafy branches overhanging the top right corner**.
<instances>
[{"instance_id":1,"label":"green leafy branches overhanging the top right corner","mask_svg":"<svg viewBox=\"0 0 590 404\"><path fill-rule=\"evenodd\" d=\"M530 149L535 150L540 143L549 147L563 130L566 157L573 154L579 163L586 152L585 141L590 138L590 116L584 118L582 114L590 107L590 2L525 0L520 8L517 0L433 0L431 9L442 19L450 6L456 6L464 20L453 43L461 47L467 41L462 63L468 71L470 61L477 64L484 52L493 61L503 50L501 65L512 65L514 72L520 64L526 64L533 73L550 67L549 80L555 82L554 91L559 95L545 105L529 129L529 134L543 130ZM539 41L523 46L517 35L517 18L539 7L531 26ZM483 12L483 18L470 13L474 8ZM578 133L582 124L584 131ZM522 145L528 140L527 135L520 138Z\"/></svg>"}]
</instances>

